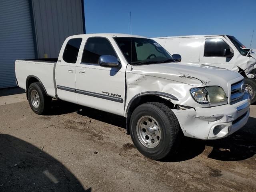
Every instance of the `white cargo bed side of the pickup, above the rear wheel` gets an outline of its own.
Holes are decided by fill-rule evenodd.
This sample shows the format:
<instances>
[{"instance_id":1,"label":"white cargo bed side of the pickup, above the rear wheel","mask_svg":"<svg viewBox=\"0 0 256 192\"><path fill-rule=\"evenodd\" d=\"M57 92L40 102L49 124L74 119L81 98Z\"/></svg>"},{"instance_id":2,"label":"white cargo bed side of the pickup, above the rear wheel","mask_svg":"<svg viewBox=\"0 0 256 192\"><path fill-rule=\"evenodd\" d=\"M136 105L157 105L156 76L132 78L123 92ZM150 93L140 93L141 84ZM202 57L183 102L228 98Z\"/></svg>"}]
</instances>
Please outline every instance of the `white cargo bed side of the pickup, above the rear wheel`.
<instances>
[{"instance_id":1,"label":"white cargo bed side of the pickup, above the rear wheel","mask_svg":"<svg viewBox=\"0 0 256 192\"><path fill-rule=\"evenodd\" d=\"M55 97L55 66L58 58L20 59L15 61L15 75L18 86L27 90L27 78L37 78L46 90L46 93Z\"/></svg>"}]
</instances>

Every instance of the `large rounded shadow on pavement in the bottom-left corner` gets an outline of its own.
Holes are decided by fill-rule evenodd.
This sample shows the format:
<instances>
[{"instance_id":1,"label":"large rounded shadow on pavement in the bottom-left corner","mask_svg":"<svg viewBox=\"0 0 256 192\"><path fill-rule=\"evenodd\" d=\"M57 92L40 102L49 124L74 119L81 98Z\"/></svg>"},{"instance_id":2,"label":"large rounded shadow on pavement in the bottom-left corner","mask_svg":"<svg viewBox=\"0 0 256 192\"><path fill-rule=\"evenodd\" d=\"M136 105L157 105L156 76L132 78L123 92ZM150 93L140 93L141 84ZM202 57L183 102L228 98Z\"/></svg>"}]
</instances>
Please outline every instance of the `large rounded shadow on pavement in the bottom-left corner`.
<instances>
[{"instance_id":1,"label":"large rounded shadow on pavement in the bottom-left corner","mask_svg":"<svg viewBox=\"0 0 256 192\"><path fill-rule=\"evenodd\" d=\"M0 191L90 192L58 160L8 134L0 134Z\"/></svg>"}]
</instances>

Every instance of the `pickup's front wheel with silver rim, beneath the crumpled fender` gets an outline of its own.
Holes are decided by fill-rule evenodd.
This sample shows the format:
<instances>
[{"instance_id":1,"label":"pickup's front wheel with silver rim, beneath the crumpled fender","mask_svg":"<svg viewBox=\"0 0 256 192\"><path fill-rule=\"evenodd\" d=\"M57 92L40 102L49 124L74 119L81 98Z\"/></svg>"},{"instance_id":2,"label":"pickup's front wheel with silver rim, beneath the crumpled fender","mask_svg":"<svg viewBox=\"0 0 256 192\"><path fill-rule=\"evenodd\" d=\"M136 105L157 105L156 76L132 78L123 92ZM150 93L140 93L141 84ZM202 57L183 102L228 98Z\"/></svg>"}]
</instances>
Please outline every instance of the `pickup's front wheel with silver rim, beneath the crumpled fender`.
<instances>
[{"instance_id":1,"label":"pickup's front wheel with silver rim, beneath the crumpled fender","mask_svg":"<svg viewBox=\"0 0 256 192\"><path fill-rule=\"evenodd\" d=\"M144 156L160 160L171 154L180 141L180 124L165 104L148 102L138 106L130 118L132 142Z\"/></svg>"}]
</instances>

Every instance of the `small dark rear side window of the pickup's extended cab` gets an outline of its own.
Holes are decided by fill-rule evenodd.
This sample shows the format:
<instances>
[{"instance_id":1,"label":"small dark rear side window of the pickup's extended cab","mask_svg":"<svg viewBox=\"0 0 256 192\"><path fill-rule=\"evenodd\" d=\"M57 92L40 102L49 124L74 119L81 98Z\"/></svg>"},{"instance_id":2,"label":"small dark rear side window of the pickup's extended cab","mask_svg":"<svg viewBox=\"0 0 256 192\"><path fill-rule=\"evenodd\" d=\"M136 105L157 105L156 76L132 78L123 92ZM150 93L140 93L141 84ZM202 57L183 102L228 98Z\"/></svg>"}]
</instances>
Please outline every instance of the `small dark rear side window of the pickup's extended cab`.
<instances>
[{"instance_id":1,"label":"small dark rear side window of the pickup's extended cab","mask_svg":"<svg viewBox=\"0 0 256 192\"><path fill-rule=\"evenodd\" d=\"M63 52L63 60L67 63L76 63L79 48L82 42L82 38L74 38L68 40L65 50Z\"/></svg>"}]
</instances>

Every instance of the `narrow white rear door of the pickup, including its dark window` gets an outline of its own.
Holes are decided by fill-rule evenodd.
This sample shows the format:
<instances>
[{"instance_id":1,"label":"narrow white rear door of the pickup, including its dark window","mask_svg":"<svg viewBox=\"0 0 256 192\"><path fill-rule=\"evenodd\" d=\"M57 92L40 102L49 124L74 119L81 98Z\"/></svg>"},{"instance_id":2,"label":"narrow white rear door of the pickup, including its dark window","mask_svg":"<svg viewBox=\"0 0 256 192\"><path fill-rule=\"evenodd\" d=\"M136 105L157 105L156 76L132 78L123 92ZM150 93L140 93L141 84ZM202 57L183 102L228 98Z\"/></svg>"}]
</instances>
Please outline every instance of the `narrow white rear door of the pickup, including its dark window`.
<instances>
[{"instance_id":1,"label":"narrow white rear door of the pickup, including its dark window","mask_svg":"<svg viewBox=\"0 0 256 192\"><path fill-rule=\"evenodd\" d=\"M58 98L72 103L77 103L75 75L81 43L82 38L65 40L55 69Z\"/></svg>"}]
</instances>

